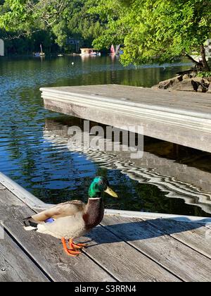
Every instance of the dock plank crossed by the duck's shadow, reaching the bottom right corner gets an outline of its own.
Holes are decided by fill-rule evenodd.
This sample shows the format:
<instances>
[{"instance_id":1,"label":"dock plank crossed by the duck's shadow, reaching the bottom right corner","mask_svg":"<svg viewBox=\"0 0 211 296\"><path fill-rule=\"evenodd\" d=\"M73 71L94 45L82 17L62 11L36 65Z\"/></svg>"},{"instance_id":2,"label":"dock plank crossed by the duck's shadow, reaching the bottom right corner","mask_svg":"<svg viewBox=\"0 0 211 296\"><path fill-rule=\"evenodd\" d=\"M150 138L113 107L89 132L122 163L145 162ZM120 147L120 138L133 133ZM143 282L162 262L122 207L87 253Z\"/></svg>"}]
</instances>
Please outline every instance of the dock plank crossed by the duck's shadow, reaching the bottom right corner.
<instances>
[{"instance_id":1,"label":"dock plank crossed by the duck's shadow, reaching the bottom right corner","mask_svg":"<svg viewBox=\"0 0 211 296\"><path fill-rule=\"evenodd\" d=\"M139 218L105 216L103 225L182 280L211 280L210 259L165 235L148 222Z\"/></svg>"}]
</instances>

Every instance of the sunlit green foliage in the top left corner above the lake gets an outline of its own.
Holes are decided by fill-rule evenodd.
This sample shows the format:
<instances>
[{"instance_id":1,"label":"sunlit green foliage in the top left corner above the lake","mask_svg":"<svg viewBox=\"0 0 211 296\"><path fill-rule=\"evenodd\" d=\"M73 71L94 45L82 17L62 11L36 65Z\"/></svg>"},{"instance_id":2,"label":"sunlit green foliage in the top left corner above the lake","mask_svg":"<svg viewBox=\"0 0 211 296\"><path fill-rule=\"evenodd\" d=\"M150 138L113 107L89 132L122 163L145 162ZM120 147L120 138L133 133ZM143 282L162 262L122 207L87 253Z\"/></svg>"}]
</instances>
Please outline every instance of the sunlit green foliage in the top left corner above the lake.
<instances>
[{"instance_id":1,"label":"sunlit green foliage in the top left corner above the lake","mask_svg":"<svg viewBox=\"0 0 211 296\"><path fill-rule=\"evenodd\" d=\"M91 45L102 32L96 13L88 13L91 5L92 0L1 0L0 29L11 39L47 30L60 47L66 46L68 37Z\"/></svg>"}]
</instances>

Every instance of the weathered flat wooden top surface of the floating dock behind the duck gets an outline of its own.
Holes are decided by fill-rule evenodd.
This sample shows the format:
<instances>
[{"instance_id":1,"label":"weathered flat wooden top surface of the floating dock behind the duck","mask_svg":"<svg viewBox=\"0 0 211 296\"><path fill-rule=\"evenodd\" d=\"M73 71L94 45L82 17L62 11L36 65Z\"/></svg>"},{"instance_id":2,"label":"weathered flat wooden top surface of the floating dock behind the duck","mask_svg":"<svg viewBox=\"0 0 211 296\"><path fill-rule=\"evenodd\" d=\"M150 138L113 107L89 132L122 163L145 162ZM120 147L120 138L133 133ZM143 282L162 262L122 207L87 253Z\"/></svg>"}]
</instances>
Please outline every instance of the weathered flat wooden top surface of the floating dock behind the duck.
<instances>
[{"instance_id":1,"label":"weathered flat wooden top surface of the floating dock behind the duck","mask_svg":"<svg viewBox=\"0 0 211 296\"><path fill-rule=\"evenodd\" d=\"M188 110L203 110L206 113L211 110L210 94L196 94L194 92L168 92L165 90L152 90L150 88L128 85L83 85L74 87L49 87L48 89L46 87L41 88L41 91L45 90L122 99L122 101L129 99L140 104L156 104L157 106L165 107L176 106L180 108L182 106L182 109L186 106Z\"/></svg>"}]
</instances>

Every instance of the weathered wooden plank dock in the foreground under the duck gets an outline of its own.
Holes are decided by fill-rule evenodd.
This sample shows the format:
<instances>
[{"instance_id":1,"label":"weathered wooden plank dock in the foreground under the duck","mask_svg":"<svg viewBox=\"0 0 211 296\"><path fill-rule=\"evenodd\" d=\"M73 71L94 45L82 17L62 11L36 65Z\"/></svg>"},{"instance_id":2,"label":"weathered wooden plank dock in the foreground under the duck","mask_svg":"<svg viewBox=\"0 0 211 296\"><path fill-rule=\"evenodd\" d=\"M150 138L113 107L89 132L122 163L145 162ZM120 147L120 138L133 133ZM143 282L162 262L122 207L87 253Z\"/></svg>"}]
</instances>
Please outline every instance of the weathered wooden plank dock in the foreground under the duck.
<instances>
[{"instance_id":1,"label":"weathered wooden plank dock in the foreground under the duck","mask_svg":"<svg viewBox=\"0 0 211 296\"><path fill-rule=\"evenodd\" d=\"M107 210L71 258L59 240L23 230L23 218L47 206L0 173L1 282L211 280L209 218Z\"/></svg>"}]
</instances>

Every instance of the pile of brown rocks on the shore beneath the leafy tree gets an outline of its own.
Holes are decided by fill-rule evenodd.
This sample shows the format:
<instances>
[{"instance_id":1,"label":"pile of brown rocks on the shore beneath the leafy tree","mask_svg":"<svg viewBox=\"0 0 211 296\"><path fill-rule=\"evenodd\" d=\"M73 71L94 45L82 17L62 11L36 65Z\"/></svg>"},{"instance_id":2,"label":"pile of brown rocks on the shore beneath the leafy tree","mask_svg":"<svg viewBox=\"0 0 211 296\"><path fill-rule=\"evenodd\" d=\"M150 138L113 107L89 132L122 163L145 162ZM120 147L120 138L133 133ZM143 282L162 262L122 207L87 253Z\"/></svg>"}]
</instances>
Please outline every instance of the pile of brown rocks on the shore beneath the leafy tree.
<instances>
[{"instance_id":1,"label":"pile of brown rocks on the shore beneath the leafy tree","mask_svg":"<svg viewBox=\"0 0 211 296\"><path fill-rule=\"evenodd\" d=\"M152 87L154 90L183 90L186 92L208 92L211 94L211 77L200 78L196 73L178 75L159 82Z\"/></svg>"}]
</instances>

